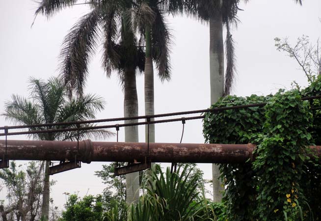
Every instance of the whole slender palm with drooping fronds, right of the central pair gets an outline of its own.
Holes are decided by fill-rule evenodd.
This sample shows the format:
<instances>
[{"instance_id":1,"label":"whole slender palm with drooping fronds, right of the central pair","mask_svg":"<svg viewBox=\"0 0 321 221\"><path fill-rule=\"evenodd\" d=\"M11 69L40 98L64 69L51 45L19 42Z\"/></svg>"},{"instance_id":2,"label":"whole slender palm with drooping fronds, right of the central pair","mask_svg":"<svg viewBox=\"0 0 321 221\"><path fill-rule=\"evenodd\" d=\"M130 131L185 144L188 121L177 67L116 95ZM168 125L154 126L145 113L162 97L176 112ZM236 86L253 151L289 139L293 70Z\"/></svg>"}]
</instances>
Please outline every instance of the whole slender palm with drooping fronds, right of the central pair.
<instances>
[{"instance_id":1,"label":"whole slender palm with drooping fronds, right of the central pair","mask_svg":"<svg viewBox=\"0 0 321 221\"><path fill-rule=\"evenodd\" d=\"M170 80L169 45L170 33L164 19L165 7L162 0L136 0L134 5L134 28L145 40L144 97L145 115L154 115L154 66L163 82ZM152 119L153 120L153 119ZM148 129L145 127L145 141ZM155 125L149 125L149 142L155 142Z\"/></svg>"}]
</instances>

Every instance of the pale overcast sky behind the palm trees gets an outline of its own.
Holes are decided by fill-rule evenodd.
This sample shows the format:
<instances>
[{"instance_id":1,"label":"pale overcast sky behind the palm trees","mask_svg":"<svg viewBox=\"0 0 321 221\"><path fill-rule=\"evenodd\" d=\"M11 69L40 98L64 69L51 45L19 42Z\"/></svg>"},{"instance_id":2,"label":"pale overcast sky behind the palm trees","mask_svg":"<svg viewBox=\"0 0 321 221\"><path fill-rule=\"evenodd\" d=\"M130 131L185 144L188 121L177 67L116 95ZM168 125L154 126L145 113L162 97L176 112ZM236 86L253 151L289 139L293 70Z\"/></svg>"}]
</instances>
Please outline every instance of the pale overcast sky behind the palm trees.
<instances>
[{"instance_id":1,"label":"pale overcast sky behind the palm trees","mask_svg":"<svg viewBox=\"0 0 321 221\"><path fill-rule=\"evenodd\" d=\"M36 3L32 0L0 0L0 112L4 101L11 94L28 96L30 76L48 79L57 75L58 55L63 37L69 28L88 12L77 5L56 14L49 21L38 16L30 28ZM304 74L292 58L275 50L274 38L289 37L291 42L302 34L312 42L321 36L321 1L303 0L303 6L294 0L250 0L241 3L241 24L233 29L237 42L236 55L238 75L233 93L238 96L267 95L278 88L291 88L291 82L307 85ZM167 22L174 36L171 53L172 79L160 83L155 78L155 113L206 109L210 105L209 83L209 27L187 17L168 17ZM116 73L106 78L101 68L101 48L91 59L89 79L85 91L105 98L105 111L97 118L123 116L123 93ZM139 115L144 115L143 76L137 77ZM0 117L0 126L10 125ZM156 125L156 142L179 142L182 124ZM26 139L26 137L10 137ZM107 141L115 141L110 138ZM124 140L123 129L120 141ZM144 126L139 129L143 142ZM183 142L203 143L201 120L188 121ZM20 162L24 163L24 162ZM80 169L52 176L57 184L51 197L56 205L65 203L63 193L101 193L104 185L95 177L94 171L102 163L82 164ZM164 165L165 166L165 165ZM211 178L211 165L201 164L205 178ZM0 200L5 193L0 193Z\"/></svg>"}]
</instances>

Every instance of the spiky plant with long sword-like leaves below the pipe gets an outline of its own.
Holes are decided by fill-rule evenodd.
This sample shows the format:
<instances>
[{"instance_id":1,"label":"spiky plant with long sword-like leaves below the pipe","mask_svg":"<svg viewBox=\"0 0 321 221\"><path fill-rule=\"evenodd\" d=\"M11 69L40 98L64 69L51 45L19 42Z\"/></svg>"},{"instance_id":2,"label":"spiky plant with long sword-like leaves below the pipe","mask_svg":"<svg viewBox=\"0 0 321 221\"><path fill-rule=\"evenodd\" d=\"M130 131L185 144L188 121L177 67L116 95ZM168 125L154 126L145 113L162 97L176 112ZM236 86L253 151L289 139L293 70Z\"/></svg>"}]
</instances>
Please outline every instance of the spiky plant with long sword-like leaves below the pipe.
<instances>
[{"instance_id":1,"label":"spiky plant with long sword-like leaves below the pipe","mask_svg":"<svg viewBox=\"0 0 321 221\"><path fill-rule=\"evenodd\" d=\"M134 208L131 220L146 221L203 221L211 217L207 200L197 191L198 176L191 176L187 166L177 172L166 168L165 174L159 165L154 165L145 176L143 187L146 194Z\"/></svg>"}]
</instances>

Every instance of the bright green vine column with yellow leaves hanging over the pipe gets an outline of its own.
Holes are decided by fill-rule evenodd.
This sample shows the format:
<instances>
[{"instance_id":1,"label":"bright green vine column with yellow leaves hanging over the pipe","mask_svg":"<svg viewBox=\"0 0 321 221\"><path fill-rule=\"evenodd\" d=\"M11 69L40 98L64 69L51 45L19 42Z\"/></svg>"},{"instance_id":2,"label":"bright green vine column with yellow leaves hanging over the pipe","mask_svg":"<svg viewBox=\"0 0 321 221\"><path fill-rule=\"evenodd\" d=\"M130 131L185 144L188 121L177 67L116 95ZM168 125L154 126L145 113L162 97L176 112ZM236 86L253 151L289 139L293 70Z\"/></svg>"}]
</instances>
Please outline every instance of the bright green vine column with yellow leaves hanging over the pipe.
<instances>
[{"instance_id":1,"label":"bright green vine column with yellow leaves hanging over the pipe","mask_svg":"<svg viewBox=\"0 0 321 221\"><path fill-rule=\"evenodd\" d=\"M265 106L265 132L253 163L257 171L258 208L261 220L298 218L295 199L303 198L300 187L303 164L308 159L306 148L311 144L312 114L309 103L302 101L299 91L278 92Z\"/></svg>"}]
</instances>

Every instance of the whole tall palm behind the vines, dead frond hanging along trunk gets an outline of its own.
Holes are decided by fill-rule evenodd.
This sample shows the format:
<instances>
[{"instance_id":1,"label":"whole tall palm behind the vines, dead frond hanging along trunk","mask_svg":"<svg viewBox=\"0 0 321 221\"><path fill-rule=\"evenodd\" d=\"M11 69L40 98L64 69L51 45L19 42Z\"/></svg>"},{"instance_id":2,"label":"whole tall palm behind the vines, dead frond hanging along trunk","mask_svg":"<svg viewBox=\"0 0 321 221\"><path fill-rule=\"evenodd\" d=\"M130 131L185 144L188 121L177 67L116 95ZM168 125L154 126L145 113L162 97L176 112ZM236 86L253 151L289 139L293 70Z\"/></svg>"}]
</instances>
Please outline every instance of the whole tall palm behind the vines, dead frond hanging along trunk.
<instances>
[{"instance_id":1,"label":"whole tall palm behind the vines, dead frond hanging along trunk","mask_svg":"<svg viewBox=\"0 0 321 221\"><path fill-rule=\"evenodd\" d=\"M211 105L231 92L235 79L236 57L231 25L237 26L239 3L241 0L172 0L173 12L186 11L187 14L210 25L210 87ZM247 2L248 0L244 0ZM302 4L302 0L294 0ZM223 26L226 27L225 55L226 69L224 75L224 40ZM212 165L214 201L220 202L223 185L219 181L219 165Z\"/></svg>"}]
</instances>

